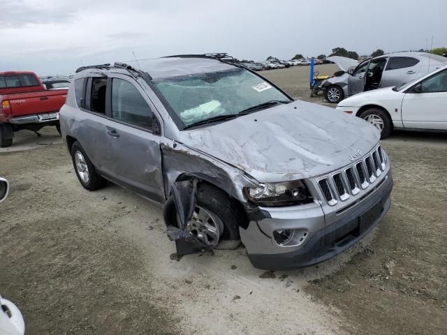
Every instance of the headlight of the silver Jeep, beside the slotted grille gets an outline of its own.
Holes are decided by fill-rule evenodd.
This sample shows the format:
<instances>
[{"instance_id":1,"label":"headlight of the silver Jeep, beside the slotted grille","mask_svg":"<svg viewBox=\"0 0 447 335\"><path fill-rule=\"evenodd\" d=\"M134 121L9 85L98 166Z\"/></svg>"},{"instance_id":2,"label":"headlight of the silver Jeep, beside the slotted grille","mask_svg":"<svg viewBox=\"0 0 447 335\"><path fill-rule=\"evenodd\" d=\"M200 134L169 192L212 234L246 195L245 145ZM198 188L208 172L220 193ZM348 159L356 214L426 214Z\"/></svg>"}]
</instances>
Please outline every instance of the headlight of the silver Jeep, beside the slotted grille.
<instances>
[{"instance_id":1,"label":"headlight of the silver Jeep, beside the slotted grille","mask_svg":"<svg viewBox=\"0 0 447 335\"><path fill-rule=\"evenodd\" d=\"M301 180L246 187L244 194L249 202L263 207L291 206L314 201Z\"/></svg>"}]
</instances>

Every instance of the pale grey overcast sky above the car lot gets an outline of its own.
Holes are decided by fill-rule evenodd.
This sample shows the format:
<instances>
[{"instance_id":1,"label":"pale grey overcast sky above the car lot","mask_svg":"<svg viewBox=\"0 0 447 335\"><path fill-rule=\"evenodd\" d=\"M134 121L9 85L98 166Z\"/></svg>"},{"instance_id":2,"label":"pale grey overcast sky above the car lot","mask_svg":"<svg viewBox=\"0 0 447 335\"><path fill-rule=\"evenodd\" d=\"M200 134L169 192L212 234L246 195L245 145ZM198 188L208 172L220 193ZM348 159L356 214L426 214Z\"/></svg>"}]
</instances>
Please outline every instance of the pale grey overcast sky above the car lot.
<instances>
[{"instance_id":1,"label":"pale grey overcast sky above the car lot","mask_svg":"<svg viewBox=\"0 0 447 335\"><path fill-rule=\"evenodd\" d=\"M0 0L0 70L228 52L291 59L447 46L445 0Z\"/></svg>"}]
</instances>

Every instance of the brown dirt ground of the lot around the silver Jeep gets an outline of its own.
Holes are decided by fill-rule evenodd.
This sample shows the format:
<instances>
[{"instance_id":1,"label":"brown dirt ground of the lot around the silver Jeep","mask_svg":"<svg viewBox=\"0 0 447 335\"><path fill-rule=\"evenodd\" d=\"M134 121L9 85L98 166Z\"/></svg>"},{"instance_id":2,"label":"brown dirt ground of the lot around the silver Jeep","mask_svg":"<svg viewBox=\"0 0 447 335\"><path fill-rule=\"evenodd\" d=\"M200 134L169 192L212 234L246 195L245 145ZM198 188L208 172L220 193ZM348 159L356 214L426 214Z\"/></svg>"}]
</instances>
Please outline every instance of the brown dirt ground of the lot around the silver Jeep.
<instances>
[{"instance_id":1,"label":"brown dirt ground of the lot around the silver Jeep","mask_svg":"<svg viewBox=\"0 0 447 335\"><path fill-rule=\"evenodd\" d=\"M318 66L321 74L335 66ZM265 71L309 98L308 67ZM27 334L446 334L447 135L396 133L390 211L314 267L254 269L244 248L170 260L161 209L82 188L54 128L0 149L0 293Z\"/></svg>"}]
</instances>

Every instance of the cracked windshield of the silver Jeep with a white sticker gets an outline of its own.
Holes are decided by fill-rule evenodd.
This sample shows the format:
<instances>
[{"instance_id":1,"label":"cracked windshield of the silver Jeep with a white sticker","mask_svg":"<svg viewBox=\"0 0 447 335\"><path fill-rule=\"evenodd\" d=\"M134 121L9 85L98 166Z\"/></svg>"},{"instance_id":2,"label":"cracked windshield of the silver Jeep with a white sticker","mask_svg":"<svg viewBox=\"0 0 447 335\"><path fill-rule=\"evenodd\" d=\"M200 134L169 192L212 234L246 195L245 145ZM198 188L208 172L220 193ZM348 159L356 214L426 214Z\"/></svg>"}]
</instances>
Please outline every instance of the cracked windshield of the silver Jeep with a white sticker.
<instances>
[{"instance_id":1,"label":"cracked windshield of the silver Jeep with a white sticker","mask_svg":"<svg viewBox=\"0 0 447 335\"><path fill-rule=\"evenodd\" d=\"M163 78L153 83L175 112L175 119L181 120L182 128L207 119L236 115L269 101L291 101L244 68Z\"/></svg>"}]
</instances>

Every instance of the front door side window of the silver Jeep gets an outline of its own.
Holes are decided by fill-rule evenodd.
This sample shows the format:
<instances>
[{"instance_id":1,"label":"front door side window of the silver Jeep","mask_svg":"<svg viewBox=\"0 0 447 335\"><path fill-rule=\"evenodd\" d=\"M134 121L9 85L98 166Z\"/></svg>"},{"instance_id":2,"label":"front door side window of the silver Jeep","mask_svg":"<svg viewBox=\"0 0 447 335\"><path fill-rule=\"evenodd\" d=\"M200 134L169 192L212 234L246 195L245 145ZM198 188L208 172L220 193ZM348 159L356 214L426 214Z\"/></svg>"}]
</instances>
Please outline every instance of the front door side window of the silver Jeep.
<instances>
[{"instance_id":1,"label":"front door side window of the silver Jeep","mask_svg":"<svg viewBox=\"0 0 447 335\"><path fill-rule=\"evenodd\" d=\"M112 81L112 118L152 129L154 114L131 82L115 78Z\"/></svg>"}]
</instances>

